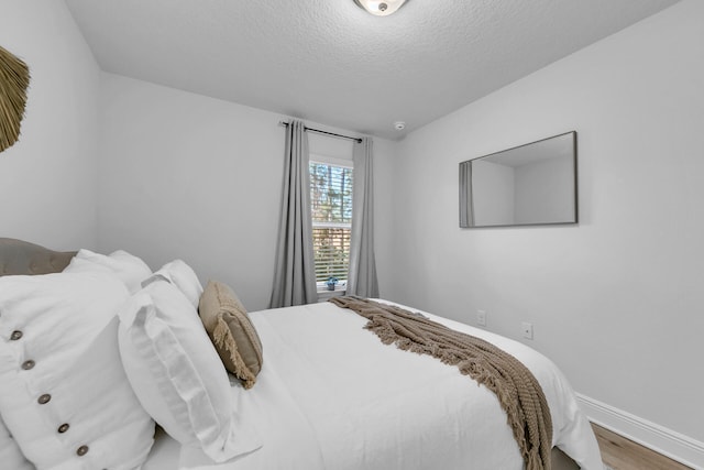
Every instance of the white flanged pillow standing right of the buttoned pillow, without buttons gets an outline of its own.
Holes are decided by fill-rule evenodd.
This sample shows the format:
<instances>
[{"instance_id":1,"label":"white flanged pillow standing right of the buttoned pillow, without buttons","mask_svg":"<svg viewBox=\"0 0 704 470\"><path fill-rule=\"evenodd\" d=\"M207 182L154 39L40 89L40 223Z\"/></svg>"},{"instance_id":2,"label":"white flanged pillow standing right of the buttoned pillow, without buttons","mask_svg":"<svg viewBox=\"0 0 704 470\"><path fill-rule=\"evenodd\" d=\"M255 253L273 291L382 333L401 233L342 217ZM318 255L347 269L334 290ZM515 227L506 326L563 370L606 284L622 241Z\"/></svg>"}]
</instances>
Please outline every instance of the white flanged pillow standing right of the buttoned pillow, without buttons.
<instances>
[{"instance_id":1,"label":"white flanged pillow standing right of the buttoned pillow, without buttons","mask_svg":"<svg viewBox=\"0 0 704 470\"><path fill-rule=\"evenodd\" d=\"M120 310L120 353L142 406L176 440L222 462L261 447L238 428L222 361L198 314L173 284L156 281Z\"/></svg>"}]
</instances>

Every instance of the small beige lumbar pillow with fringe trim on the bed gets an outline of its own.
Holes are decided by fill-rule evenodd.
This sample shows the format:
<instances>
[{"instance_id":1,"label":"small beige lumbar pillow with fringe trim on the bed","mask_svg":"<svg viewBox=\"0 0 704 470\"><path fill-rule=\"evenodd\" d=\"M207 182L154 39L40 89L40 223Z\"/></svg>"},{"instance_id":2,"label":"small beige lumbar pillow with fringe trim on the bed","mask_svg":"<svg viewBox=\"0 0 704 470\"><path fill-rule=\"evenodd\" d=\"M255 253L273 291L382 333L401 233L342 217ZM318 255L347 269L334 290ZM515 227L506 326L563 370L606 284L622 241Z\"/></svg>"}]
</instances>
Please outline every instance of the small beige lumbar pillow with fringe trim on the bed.
<instances>
[{"instance_id":1,"label":"small beige lumbar pillow with fringe trim on the bed","mask_svg":"<svg viewBox=\"0 0 704 470\"><path fill-rule=\"evenodd\" d=\"M227 285L208 281L198 313L226 369L251 389L262 370L262 341L238 296Z\"/></svg>"}]
</instances>

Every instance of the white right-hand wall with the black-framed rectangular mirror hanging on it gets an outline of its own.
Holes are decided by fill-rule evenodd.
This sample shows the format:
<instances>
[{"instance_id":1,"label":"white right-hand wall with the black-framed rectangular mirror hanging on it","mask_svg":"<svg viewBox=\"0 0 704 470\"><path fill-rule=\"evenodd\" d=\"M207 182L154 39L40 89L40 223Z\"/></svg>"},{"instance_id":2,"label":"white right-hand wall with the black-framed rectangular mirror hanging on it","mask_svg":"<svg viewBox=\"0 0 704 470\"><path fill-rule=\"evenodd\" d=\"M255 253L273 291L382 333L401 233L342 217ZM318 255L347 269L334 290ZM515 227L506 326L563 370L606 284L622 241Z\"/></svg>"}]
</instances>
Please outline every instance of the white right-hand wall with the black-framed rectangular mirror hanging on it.
<instances>
[{"instance_id":1,"label":"white right-hand wall with the black-framed rectangular mirror hanging on it","mask_svg":"<svg viewBox=\"0 0 704 470\"><path fill-rule=\"evenodd\" d=\"M578 392L698 441L703 24L685 0L405 139L387 289L517 339L531 321ZM459 162L571 130L579 226L458 228Z\"/></svg>"}]
</instances>

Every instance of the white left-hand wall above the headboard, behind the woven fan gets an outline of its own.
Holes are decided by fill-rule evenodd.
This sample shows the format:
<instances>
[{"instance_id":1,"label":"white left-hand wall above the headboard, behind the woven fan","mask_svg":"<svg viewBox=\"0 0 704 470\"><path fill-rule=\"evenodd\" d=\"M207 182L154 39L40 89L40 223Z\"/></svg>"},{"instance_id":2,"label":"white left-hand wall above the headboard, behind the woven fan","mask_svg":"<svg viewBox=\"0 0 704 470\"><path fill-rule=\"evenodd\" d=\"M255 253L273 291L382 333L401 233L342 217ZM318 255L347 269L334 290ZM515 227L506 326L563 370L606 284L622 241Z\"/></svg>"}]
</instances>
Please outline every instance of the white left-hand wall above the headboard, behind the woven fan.
<instances>
[{"instance_id":1,"label":"white left-hand wall above the headboard, behind the woven fan","mask_svg":"<svg viewBox=\"0 0 704 470\"><path fill-rule=\"evenodd\" d=\"M64 2L0 10L0 45L31 74L20 140L0 153L0 237L95 248L98 66Z\"/></svg>"}]
</instances>

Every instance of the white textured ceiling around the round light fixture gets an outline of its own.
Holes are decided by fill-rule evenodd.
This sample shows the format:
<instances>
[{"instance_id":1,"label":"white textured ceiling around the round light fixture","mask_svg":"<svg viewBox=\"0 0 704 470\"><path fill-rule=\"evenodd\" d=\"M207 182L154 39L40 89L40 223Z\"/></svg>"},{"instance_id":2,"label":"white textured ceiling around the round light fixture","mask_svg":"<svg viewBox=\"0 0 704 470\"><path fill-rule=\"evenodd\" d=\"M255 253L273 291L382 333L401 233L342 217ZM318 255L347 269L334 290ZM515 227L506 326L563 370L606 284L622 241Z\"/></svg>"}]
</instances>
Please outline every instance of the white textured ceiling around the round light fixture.
<instances>
[{"instance_id":1,"label":"white textured ceiling around the round light fixture","mask_svg":"<svg viewBox=\"0 0 704 470\"><path fill-rule=\"evenodd\" d=\"M66 0L106 72L387 139L675 2Z\"/></svg>"}]
</instances>

